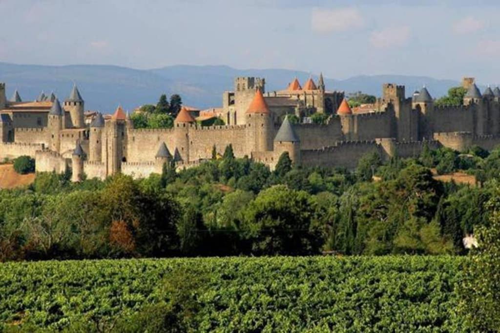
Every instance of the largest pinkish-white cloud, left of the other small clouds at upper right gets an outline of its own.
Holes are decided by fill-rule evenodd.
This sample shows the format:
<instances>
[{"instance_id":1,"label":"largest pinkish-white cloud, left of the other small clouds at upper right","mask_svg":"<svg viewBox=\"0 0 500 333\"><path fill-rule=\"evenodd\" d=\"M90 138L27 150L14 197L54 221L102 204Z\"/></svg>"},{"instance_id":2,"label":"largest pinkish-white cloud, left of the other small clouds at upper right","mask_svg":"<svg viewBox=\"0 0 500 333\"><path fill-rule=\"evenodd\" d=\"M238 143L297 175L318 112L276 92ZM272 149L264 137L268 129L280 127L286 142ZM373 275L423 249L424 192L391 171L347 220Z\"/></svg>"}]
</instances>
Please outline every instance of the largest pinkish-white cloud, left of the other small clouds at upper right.
<instances>
[{"instance_id":1,"label":"largest pinkish-white cloud, left of the other small clouds at upper right","mask_svg":"<svg viewBox=\"0 0 500 333\"><path fill-rule=\"evenodd\" d=\"M314 9L311 14L311 28L316 32L345 31L363 24L363 17L356 8Z\"/></svg>"}]
</instances>

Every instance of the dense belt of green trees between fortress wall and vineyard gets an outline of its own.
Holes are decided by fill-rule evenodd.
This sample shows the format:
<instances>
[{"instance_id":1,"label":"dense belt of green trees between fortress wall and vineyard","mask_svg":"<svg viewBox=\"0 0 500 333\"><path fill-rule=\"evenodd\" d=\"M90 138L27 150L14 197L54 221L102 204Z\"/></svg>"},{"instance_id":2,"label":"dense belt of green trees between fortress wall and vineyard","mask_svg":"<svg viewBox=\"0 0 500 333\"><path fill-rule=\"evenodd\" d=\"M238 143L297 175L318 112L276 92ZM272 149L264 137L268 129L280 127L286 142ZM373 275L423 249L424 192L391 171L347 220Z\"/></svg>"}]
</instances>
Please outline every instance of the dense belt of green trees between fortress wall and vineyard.
<instances>
[{"instance_id":1,"label":"dense belt of green trees between fortress wall and vineyard","mask_svg":"<svg viewBox=\"0 0 500 333\"><path fill-rule=\"evenodd\" d=\"M500 178L500 150L477 147L387 162L368 154L354 171L297 168L286 153L270 171L231 146L213 157L141 180L39 173L29 188L1 190L0 260L459 254ZM442 183L431 169L465 170L477 186Z\"/></svg>"}]
</instances>

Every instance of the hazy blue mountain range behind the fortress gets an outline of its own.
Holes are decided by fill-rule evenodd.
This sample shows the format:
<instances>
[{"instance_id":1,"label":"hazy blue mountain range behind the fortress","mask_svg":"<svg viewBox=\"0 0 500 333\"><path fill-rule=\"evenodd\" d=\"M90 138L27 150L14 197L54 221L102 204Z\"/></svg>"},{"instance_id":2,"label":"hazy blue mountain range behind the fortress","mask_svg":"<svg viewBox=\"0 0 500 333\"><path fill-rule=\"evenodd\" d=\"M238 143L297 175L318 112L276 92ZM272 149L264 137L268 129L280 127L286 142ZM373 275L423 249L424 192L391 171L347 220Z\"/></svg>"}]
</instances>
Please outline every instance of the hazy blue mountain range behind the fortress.
<instances>
[{"instance_id":1,"label":"hazy blue mountain range behind the fortress","mask_svg":"<svg viewBox=\"0 0 500 333\"><path fill-rule=\"evenodd\" d=\"M232 90L235 76L264 77L266 90L272 91L285 88L295 76L303 84L309 73L228 66L174 65L141 70L110 65L42 66L0 62L0 82L6 82L7 98L17 89L23 100L34 100L41 90L45 93L53 90L59 99L64 99L76 82L85 100L85 109L104 113L112 112L118 104L129 110L146 103L155 104L161 93L178 93L189 106L220 106L222 92ZM317 80L317 75L312 77ZM325 77L328 90L362 91L376 96L381 94L381 85L385 82L404 84L407 96L423 84L433 97L442 96L450 87L458 85L454 80L426 76L359 75L345 80Z\"/></svg>"}]
</instances>

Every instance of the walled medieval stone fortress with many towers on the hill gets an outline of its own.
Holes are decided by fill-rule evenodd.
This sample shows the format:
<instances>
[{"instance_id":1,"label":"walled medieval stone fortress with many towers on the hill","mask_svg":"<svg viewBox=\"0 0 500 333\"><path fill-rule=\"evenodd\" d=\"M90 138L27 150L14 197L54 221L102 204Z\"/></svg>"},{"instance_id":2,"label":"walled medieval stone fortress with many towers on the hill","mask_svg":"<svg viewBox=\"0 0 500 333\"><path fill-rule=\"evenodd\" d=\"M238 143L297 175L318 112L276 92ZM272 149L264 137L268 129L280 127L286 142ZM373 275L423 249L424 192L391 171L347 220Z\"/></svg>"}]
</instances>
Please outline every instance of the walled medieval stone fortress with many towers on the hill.
<instances>
[{"instance_id":1,"label":"walled medieval stone fortress with many towers on the hill","mask_svg":"<svg viewBox=\"0 0 500 333\"><path fill-rule=\"evenodd\" d=\"M491 149L500 143L500 89L481 94L473 78L462 84L462 106L438 107L425 87L406 97L404 86L387 83L375 104L353 112L343 92L325 90L322 75L317 83L309 78L302 87L294 79L273 92L265 91L263 78L237 77L222 107L209 111L226 125L201 126L182 108L173 128L135 129L121 107L86 124L76 86L62 103L43 93L24 102L17 91L7 100L0 83L0 158L29 155L37 171L71 169L79 181L117 172L146 177L164 164L186 168L229 144L236 157L271 168L283 152L297 165L353 168L368 152L388 158L418 155L424 145ZM308 121L314 113L327 114L326 123ZM292 124L288 115L303 121Z\"/></svg>"}]
</instances>

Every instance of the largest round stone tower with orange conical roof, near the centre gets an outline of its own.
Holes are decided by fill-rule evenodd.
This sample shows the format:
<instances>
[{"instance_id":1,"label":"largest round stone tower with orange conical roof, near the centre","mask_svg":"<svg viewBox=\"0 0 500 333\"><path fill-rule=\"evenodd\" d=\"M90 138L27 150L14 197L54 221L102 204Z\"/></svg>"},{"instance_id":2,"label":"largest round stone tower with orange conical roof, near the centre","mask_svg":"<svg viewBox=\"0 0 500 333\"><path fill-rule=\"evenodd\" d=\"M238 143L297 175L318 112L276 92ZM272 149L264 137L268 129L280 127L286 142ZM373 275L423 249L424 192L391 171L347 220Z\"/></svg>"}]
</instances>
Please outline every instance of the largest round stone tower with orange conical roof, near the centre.
<instances>
[{"instance_id":1,"label":"largest round stone tower with orange conical roof, near the centre","mask_svg":"<svg viewBox=\"0 0 500 333\"><path fill-rule=\"evenodd\" d=\"M255 91L245 115L247 151L272 150L272 116L260 90Z\"/></svg>"}]
</instances>

